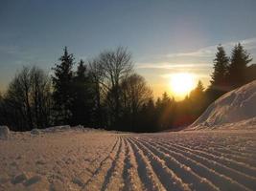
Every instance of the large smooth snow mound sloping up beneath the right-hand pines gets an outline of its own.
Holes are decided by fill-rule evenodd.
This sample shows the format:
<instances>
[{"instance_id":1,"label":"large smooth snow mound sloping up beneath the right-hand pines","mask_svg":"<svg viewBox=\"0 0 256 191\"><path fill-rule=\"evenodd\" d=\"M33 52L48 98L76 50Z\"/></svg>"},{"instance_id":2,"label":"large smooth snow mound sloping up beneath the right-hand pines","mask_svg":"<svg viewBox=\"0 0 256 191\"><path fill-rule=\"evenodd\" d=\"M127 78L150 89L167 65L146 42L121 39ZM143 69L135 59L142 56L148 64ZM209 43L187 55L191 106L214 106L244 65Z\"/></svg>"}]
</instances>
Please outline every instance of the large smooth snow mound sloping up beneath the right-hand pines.
<instances>
[{"instance_id":1,"label":"large smooth snow mound sloping up beneath the right-hand pines","mask_svg":"<svg viewBox=\"0 0 256 191\"><path fill-rule=\"evenodd\" d=\"M188 129L256 127L256 80L221 96Z\"/></svg>"}]
</instances>

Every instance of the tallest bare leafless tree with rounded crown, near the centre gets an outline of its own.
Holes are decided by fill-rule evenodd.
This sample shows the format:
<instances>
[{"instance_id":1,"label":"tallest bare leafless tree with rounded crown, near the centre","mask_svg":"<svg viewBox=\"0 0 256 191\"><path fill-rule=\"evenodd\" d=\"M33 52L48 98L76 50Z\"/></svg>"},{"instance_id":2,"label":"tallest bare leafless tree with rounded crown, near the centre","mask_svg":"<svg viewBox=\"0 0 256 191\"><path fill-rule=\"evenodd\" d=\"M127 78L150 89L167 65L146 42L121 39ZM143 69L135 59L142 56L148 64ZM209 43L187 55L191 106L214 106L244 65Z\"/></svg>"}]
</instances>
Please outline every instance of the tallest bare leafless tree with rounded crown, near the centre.
<instances>
[{"instance_id":1,"label":"tallest bare leafless tree with rounded crown, near the centre","mask_svg":"<svg viewBox=\"0 0 256 191\"><path fill-rule=\"evenodd\" d=\"M110 114L109 122L114 126L118 126L121 114L120 83L132 71L131 54L128 53L127 49L118 47L115 51L101 53L99 62L104 75L102 85L107 91L105 101Z\"/></svg>"}]
</instances>

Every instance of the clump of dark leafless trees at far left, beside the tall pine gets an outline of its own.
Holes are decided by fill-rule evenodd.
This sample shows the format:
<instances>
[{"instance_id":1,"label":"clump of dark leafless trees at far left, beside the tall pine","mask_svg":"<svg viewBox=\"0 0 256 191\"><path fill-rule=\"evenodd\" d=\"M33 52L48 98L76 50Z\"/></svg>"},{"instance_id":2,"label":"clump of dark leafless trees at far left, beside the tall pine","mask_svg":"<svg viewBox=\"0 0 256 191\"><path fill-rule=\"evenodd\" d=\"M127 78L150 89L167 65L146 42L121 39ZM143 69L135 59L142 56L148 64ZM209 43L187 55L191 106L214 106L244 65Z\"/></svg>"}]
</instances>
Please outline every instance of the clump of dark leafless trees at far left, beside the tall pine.
<instances>
[{"instance_id":1,"label":"clump of dark leafless trees at far left, beside the tall pine","mask_svg":"<svg viewBox=\"0 0 256 191\"><path fill-rule=\"evenodd\" d=\"M15 75L3 97L1 115L12 130L27 131L51 124L51 91L47 74L24 67Z\"/></svg>"}]
</instances>

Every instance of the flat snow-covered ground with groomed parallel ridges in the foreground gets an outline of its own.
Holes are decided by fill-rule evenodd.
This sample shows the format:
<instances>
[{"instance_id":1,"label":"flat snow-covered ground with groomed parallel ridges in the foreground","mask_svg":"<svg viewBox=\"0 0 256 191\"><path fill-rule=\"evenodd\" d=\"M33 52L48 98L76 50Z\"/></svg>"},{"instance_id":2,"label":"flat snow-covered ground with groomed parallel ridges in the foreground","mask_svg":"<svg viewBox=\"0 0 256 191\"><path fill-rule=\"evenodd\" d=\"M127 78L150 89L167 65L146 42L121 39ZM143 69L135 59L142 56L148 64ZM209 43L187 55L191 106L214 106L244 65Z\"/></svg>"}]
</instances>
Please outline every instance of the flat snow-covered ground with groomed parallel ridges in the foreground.
<instances>
[{"instance_id":1,"label":"flat snow-covered ground with groomed parallel ridges in the foreground","mask_svg":"<svg viewBox=\"0 0 256 191\"><path fill-rule=\"evenodd\" d=\"M255 190L255 148L256 130L10 132L0 190Z\"/></svg>"}]
</instances>

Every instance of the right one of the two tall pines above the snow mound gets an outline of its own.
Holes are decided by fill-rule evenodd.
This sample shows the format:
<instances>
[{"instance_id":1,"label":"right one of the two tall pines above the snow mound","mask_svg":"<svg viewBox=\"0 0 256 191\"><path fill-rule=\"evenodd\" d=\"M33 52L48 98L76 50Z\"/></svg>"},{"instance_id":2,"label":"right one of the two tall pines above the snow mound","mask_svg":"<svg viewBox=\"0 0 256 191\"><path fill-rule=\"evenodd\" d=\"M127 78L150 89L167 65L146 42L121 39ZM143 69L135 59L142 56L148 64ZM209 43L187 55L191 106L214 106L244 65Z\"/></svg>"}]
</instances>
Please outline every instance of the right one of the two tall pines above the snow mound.
<instances>
[{"instance_id":1,"label":"right one of the two tall pines above the snow mound","mask_svg":"<svg viewBox=\"0 0 256 191\"><path fill-rule=\"evenodd\" d=\"M246 83L247 64L252 60L250 54L238 43L231 53L231 62L228 69L228 80L232 88L237 88Z\"/></svg>"}]
</instances>

